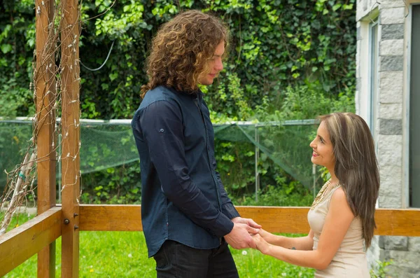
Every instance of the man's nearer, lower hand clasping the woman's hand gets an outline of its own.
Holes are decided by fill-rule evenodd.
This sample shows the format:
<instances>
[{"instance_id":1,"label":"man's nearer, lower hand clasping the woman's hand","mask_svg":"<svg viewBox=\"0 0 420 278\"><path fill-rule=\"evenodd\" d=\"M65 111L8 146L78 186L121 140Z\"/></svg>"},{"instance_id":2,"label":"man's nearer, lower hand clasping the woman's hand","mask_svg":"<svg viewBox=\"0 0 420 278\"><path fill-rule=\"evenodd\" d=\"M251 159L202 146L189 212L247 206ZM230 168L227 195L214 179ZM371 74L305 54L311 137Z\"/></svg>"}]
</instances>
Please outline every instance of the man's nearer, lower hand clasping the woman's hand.
<instances>
[{"instance_id":1,"label":"man's nearer, lower hand clasping the woman's hand","mask_svg":"<svg viewBox=\"0 0 420 278\"><path fill-rule=\"evenodd\" d=\"M255 223L255 222L254 222ZM257 248L250 234L257 234L258 229L252 228L245 223L233 223L233 229L225 235L225 240L232 248Z\"/></svg>"}]
</instances>

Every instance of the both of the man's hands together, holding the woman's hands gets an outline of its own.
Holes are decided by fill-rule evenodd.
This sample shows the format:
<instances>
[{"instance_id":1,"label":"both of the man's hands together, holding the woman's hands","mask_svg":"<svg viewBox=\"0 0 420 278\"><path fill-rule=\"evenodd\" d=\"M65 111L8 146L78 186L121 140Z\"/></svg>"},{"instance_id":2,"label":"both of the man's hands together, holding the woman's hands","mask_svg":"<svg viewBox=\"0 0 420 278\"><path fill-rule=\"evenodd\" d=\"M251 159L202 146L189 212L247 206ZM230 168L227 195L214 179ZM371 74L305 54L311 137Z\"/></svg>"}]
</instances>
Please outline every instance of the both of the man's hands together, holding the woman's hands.
<instances>
[{"instance_id":1,"label":"both of the man's hands together, holding the woman's hands","mask_svg":"<svg viewBox=\"0 0 420 278\"><path fill-rule=\"evenodd\" d=\"M225 240L232 248L257 248L251 235L258 234L261 225L258 225L250 218L236 217L232 219L233 229L228 235L225 235Z\"/></svg>"}]
</instances>

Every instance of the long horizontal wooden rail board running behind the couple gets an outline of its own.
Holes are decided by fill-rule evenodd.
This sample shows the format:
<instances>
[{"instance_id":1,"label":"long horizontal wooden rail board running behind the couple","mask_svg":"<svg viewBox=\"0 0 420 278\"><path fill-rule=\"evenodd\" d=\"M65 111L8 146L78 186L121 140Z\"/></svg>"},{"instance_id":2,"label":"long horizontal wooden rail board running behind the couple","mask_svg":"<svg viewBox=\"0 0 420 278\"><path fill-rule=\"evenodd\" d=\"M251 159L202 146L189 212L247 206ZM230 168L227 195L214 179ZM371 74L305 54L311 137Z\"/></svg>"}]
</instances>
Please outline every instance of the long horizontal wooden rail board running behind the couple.
<instances>
[{"instance_id":1,"label":"long horizontal wooden rail board running behind the couple","mask_svg":"<svg viewBox=\"0 0 420 278\"><path fill-rule=\"evenodd\" d=\"M80 230L141 231L140 205L80 205ZM309 207L237 207L269 232L307 233ZM419 209L377 209L375 235L420 237Z\"/></svg>"}]
</instances>

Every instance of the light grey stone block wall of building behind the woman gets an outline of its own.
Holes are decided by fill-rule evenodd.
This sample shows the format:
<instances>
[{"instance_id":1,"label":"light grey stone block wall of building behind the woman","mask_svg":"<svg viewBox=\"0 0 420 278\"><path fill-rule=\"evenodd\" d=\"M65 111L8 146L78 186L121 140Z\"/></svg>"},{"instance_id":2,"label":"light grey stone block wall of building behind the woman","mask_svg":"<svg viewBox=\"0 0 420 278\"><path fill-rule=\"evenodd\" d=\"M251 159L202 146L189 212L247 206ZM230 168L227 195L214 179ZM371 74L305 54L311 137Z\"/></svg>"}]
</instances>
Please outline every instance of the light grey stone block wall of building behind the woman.
<instances>
[{"instance_id":1,"label":"light grey stone block wall of building behind the woman","mask_svg":"<svg viewBox=\"0 0 420 278\"><path fill-rule=\"evenodd\" d=\"M380 4L379 4L379 3ZM420 1L419 1L420 2ZM379 20L378 40L378 93L376 105L375 137L380 167L381 187L379 207L401 208L405 204L404 175L408 169L403 167L405 126L405 24L408 4L402 0L357 0L356 20L358 44L356 57L356 111L363 107L369 93L366 85L367 66L360 57L367 56L369 43L368 29L372 20ZM420 278L420 237L375 236L367 251L370 264L376 260L393 260L388 267L391 277Z\"/></svg>"}]
</instances>

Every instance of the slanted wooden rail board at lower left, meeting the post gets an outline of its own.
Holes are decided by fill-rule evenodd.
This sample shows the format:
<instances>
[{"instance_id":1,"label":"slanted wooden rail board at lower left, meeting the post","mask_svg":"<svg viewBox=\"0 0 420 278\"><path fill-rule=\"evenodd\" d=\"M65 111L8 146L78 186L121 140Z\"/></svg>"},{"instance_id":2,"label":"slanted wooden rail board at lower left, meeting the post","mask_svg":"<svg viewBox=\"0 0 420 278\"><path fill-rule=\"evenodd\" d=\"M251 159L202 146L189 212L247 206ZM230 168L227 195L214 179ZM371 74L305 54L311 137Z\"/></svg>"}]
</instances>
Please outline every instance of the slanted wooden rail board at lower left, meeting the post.
<instances>
[{"instance_id":1,"label":"slanted wooden rail board at lower left, meeting the post","mask_svg":"<svg viewBox=\"0 0 420 278\"><path fill-rule=\"evenodd\" d=\"M61 207L53 207L2 235L0 277L55 242L61 235L61 219Z\"/></svg>"}]
</instances>

